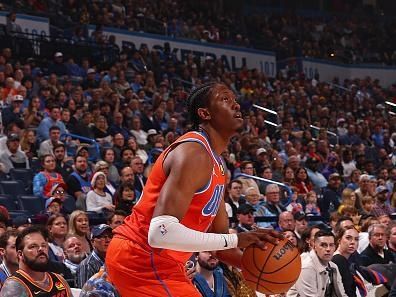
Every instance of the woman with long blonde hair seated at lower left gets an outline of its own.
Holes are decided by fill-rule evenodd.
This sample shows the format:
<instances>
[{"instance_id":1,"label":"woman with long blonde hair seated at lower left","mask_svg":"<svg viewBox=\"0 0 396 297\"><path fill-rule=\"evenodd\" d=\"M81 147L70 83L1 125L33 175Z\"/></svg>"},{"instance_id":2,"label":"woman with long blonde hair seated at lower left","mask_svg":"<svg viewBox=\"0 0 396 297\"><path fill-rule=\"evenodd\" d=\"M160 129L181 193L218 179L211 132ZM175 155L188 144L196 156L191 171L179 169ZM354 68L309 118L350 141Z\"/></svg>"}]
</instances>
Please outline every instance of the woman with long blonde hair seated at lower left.
<instances>
[{"instance_id":1,"label":"woman with long blonde hair seated at lower left","mask_svg":"<svg viewBox=\"0 0 396 297\"><path fill-rule=\"evenodd\" d=\"M69 217L69 234L77 237L82 245L85 254L91 253L92 244L89 240L89 219L87 214L82 210L75 210Z\"/></svg>"}]
</instances>

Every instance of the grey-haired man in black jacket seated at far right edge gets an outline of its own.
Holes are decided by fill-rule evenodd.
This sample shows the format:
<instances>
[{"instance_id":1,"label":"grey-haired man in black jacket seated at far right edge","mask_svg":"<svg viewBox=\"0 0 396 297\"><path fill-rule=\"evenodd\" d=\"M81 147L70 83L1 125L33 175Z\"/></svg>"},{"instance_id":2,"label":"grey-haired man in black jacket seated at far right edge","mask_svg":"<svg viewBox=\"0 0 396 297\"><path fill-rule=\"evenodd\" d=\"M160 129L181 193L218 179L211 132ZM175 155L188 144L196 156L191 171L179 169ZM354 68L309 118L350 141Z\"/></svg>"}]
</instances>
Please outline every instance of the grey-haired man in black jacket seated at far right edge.
<instances>
[{"instance_id":1,"label":"grey-haired man in black jacket seated at far right edge","mask_svg":"<svg viewBox=\"0 0 396 297\"><path fill-rule=\"evenodd\" d=\"M392 253L384 249L386 244L386 227L381 224L374 224L368 228L369 245L360 254L362 266L372 264L389 264L394 263L395 259Z\"/></svg>"}]
</instances>

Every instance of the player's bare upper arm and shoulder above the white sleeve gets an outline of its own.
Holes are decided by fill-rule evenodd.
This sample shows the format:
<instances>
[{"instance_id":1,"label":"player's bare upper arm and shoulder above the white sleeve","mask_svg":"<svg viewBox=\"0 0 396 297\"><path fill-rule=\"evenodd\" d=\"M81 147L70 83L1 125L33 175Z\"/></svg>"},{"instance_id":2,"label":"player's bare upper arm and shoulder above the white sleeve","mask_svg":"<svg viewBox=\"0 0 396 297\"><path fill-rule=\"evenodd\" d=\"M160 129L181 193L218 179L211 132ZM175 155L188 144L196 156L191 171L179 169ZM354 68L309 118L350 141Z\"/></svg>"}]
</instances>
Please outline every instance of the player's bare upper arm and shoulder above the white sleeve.
<instances>
[{"instance_id":1,"label":"player's bare upper arm and shoulder above the white sleeve","mask_svg":"<svg viewBox=\"0 0 396 297\"><path fill-rule=\"evenodd\" d=\"M181 220L195 192L210 181L213 163L198 143L182 143L164 161L167 179L161 189L153 217L170 215Z\"/></svg>"}]
</instances>

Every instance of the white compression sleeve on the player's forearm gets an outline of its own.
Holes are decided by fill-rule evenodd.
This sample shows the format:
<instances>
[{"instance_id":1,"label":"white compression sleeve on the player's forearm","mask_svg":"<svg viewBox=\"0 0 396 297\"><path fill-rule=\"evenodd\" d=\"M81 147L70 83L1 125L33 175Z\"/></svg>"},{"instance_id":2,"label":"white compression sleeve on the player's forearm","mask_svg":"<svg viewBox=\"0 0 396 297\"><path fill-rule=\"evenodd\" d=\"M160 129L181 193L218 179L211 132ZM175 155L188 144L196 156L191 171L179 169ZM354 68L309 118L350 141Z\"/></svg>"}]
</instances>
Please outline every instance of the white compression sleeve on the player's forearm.
<instances>
[{"instance_id":1,"label":"white compression sleeve on the player's forearm","mask_svg":"<svg viewBox=\"0 0 396 297\"><path fill-rule=\"evenodd\" d=\"M238 236L195 231L180 224L176 217L163 215L151 219L148 242L155 248L204 252L235 248Z\"/></svg>"}]
</instances>

